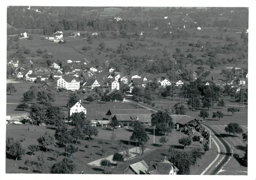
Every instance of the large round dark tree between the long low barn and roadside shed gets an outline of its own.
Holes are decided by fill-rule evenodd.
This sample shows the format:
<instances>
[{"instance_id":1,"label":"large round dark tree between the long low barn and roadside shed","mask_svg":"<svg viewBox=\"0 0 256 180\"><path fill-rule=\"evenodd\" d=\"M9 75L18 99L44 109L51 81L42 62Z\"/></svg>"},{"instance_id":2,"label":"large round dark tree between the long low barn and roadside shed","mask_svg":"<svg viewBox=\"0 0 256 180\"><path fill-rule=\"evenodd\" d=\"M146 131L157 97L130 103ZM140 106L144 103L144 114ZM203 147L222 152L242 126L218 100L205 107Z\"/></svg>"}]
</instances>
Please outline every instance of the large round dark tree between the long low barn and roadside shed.
<instances>
[{"instance_id":1,"label":"large round dark tree between the long low barn and roadside shed","mask_svg":"<svg viewBox=\"0 0 256 180\"><path fill-rule=\"evenodd\" d=\"M172 128L174 127L172 117L163 111L151 114L151 123L153 126L156 126L160 134L168 134L172 132Z\"/></svg>"}]
</instances>

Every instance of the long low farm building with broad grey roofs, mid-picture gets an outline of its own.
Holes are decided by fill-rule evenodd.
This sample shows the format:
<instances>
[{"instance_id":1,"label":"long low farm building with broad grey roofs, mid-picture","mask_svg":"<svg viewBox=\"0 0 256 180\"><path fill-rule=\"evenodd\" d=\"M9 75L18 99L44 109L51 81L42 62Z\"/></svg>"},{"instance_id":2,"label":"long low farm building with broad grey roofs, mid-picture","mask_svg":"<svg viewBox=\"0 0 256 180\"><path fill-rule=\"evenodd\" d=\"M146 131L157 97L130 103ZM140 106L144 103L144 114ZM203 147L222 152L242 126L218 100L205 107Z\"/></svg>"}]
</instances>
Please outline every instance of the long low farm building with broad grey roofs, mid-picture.
<instances>
[{"instance_id":1,"label":"long low farm building with broad grey roofs, mid-picture","mask_svg":"<svg viewBox=\"0 0 256 180\"><path fill-rule=\"evenodd\" d=\"M145 126L151 126L151 111L148 109L110 109L103 119L119 122L120 126L131 126L134 121L139 121Z\"/></svg>"}]
</instances>

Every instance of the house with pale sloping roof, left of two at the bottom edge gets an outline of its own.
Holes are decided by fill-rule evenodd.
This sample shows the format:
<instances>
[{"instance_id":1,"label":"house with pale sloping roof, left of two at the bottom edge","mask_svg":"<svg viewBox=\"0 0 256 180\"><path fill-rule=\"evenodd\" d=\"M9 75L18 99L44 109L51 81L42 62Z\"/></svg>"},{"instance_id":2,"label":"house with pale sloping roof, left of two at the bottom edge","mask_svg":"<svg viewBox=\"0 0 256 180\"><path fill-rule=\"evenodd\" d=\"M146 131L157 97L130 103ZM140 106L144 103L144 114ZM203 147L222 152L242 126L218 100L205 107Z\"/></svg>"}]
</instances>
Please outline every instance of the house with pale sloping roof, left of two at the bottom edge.
<instances>
[{"instance_id":1,"label":"house with pale sloping roof, left of two at the bottom edge","mask_svg":"<svg viewBox=\"0 0 256 180\"><path fill-rule=\"evenodd\" d=\"M146 174L148 170L147 163L142 160L138 163L134 163L129 165L128 168L126 168L122 174Z\"/></svg>"}]
</instances>

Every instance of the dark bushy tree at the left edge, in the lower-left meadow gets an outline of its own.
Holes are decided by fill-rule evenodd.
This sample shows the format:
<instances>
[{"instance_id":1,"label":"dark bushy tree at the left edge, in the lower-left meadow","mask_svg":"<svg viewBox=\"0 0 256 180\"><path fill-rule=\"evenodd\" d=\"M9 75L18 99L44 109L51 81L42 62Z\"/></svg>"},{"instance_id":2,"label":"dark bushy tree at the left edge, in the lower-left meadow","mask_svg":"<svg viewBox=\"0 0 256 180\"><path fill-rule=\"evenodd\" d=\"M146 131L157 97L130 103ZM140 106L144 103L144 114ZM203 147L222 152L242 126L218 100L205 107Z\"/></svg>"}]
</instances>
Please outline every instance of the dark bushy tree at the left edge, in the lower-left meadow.
<instances>
[{"instance_id":1,"label":"dark bushy tree at the left edge, in the lower-left meadow","mask_svg":"<svg viewBox=\"0 0 256 180\"><path fill-rule=\"evenodd\" d=\"M20 142L8 137L6 140L6 157L17 160L23 154L25 154L25 149L20 145Z\"/></svg>"}]
</instances>

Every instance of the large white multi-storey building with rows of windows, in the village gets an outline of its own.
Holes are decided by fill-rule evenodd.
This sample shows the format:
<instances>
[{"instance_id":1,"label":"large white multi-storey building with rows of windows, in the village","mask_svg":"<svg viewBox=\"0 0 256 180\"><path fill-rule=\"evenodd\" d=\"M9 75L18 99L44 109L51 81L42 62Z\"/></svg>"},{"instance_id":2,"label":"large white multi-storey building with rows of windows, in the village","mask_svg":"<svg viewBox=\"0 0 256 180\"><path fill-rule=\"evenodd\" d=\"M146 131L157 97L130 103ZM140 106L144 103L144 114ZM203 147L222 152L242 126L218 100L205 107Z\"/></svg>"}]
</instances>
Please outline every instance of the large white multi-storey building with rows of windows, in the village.
<instances>
[{"instance_id":1,"label":"large white multi-storey building with rows of windows, in the village","mask_svg":"<svg viewBox=\"0 0 256 180\"><path fill-rule=\"evenodd\" d=\"M63 76L57 80L57 86L67 90L79 90L80 80L73 76Z\"/></svg>"}]
</instances>

